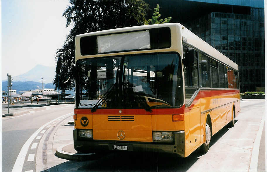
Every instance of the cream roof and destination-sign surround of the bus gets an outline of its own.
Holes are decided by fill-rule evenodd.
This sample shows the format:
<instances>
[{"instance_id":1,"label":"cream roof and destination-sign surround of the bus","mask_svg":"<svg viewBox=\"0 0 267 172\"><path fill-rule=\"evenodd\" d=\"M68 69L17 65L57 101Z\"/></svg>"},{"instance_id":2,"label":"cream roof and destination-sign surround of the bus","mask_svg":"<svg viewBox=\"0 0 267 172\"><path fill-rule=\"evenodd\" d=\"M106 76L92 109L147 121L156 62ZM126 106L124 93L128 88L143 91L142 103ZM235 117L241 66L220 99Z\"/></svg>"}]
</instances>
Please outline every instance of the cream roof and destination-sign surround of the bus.
<instances>
[{"instance_id":1,"label":"cream roof and destination-sign surround of the bus","mask_svg":"<svg viewBox=\"0 0 267 172\"><path fill-rule=\"evenodd\" d=\"M146 29L153 29L153 28L159 28L159 27L170 27L171 29L171 47L166 49L157 49L157 50L140 50L140 51L127 51L127 52L121 52L121 53L110 53L110 54L95 54L94 57L100 57L100 56L111 56L111 55L120 55L120 54L133 54L133 53L149 53L151 51L153 52L161 52L161 51L177 51L182 56L182 44L176 43L183 41L185 44L191 45L193 48L195 48L198 51L204 52L207 56L210 56L211 58L220 61L224 63L225 65L238 70L238 65L234 63L232 60L227 58L225 55L220 53L218 50L213 48L211 45L203 41L201 38L199 38L197 35L195 35L190 30L186 29L183 25L180 23L165 23L165 24L155 24L155 25L143 25L143 26L133 26L133 27L123 27L123 28L116 28L116 29L110 29L110 30L102 30L97 32L90 32L85 33L81 35L76 36L76 61L78 59L82 58L90 58L93 57L92 55L83 56L80 53L80 39L81 37L85 36L94 36L94 35L107 35L112 33L120 33L120 32L129 32L129 31L138 31L138 30L146 30ZM179 50L179 51L178 51Z\"/></svg>"}]
</instances>

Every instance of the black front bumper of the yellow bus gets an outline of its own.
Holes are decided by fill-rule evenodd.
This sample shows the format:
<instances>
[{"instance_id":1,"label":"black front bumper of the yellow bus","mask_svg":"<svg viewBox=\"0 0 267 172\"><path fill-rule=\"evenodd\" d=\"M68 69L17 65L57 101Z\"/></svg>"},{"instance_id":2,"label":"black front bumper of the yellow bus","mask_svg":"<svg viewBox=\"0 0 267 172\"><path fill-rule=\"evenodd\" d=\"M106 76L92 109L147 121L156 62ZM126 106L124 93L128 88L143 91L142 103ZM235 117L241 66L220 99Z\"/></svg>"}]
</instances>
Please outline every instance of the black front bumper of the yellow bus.
<instances>
[{"instance_id":1,"label":"black front bumper of the yellow bus","mask_svg":"<svg viewBox=\"0 0 267 172\"><path fill-rule=\"evenodd\" d=\"M108 140L84 140L78 138L78 130L73 130L74 149L77 152L99 153L99 152L156 152L172 153L184 157L184 131L174 132L174 142L161 144L154 142L118 142ZM127 150L114 150L114 145L127 146Z\"/></svg>"}]
</instances>

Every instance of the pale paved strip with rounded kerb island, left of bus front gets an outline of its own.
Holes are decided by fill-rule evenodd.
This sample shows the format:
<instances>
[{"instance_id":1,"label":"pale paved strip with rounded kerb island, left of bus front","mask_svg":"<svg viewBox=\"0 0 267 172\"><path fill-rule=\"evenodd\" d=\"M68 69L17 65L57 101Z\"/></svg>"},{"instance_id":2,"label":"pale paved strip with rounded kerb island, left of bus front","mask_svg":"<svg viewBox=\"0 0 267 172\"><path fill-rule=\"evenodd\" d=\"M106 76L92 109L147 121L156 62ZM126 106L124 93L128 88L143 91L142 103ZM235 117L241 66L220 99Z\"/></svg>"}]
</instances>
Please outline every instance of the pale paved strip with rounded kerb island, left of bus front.
<instances>
[{"instance_id":1,"label":"pale paved strip with rounded kerb island, left of bus front","mask_svg":"<svg viewBox=\"0 0 267 172\"><path fill-rule=\"evenodd\" d=\"M37 149L36 171L71 171L68 164L76 161L69 160L82 161L94 159L97 156L91 153L78 153L74 149L73 129L74 120L73 115L71 115L45 132ZM47 137L49 137L48 141ZM46 150L43 149L44 147L47 147ZM76 171L76 169L73 169L73 171Z\"/></svg>"}]
</instances>

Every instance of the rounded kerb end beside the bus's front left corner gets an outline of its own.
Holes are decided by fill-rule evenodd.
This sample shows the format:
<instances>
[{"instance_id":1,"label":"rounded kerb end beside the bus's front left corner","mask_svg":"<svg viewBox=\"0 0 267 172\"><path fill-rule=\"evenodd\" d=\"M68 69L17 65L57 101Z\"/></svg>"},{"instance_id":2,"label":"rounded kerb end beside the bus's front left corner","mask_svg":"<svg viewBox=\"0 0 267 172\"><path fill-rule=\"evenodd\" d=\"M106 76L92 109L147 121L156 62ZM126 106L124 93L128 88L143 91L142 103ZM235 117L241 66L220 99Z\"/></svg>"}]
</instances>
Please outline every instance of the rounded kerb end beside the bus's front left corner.
<instances>
[{"instance_id":1,"label":"rounded kerb end beside the bus's front left corner","mask_svg":"<svg viewBox=\"0 0 267 172\"><path fill-rule=\"evenodd\" d=\"M63 145L60 146L59 148L57 148L57 152L55 153L55 155L59 158L62 159L68 159L68 160L87 160L87 159L91 159L94 158L96 156L96 154L93 153L70 153L70 152L65 152L62 150L63 147L71 145L73 143L69 143L67 145Z\"/></svg>"}]
</instances>

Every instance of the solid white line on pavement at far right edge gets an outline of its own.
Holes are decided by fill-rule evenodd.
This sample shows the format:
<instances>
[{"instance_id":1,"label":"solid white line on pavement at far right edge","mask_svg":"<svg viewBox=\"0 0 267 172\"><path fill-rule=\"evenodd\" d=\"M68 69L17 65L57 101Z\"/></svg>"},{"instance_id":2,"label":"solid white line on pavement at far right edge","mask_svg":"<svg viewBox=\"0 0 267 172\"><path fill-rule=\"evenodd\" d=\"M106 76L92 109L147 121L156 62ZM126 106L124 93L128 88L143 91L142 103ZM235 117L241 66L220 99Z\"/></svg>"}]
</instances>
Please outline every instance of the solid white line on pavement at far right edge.
<instances>
[{"instance_id":1,"label":"solid white line on pavement at far right edge","mask_svg":"<svg viewBox=\"0 0 267 172\"><path fill-rule=\"evenodd\" d=\"M249 172L258 171L258 157L259 157L259 149L260 149L260 143L261 143L261 135L262 135L262 130L263 130L264 121L265 121L264 118L265 118L265 113L263 113L261 124L260 124L256 139L253 145L250 165L249 165Z\"/></svg>"}]
</instances>

